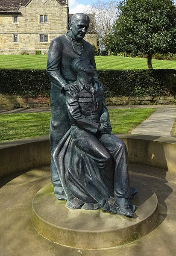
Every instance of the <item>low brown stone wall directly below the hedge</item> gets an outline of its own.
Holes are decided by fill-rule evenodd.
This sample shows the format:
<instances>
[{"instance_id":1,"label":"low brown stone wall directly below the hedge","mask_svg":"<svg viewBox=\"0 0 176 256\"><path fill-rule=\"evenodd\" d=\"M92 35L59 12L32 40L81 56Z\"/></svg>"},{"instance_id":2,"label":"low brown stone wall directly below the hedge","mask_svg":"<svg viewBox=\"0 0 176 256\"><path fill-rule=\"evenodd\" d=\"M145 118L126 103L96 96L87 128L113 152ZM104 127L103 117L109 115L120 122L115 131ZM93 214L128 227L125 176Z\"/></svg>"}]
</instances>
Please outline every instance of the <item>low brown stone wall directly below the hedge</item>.
<instances>
[{"instance_id":1,"label":"low brown stone wall directly below the hedge","mask_svg":"<svg viewBox=\"0 0 176 256\"><path fill-rule=\"evenodd\" d=\"M173 96L153 97L153 96L136 96L136 97L109 97L106 98L107 106L127 106L127 105L152 105L152 104L176 104ZM33 108L33 107L50 107L49 97L21 97L12 94L0 94L0 109L13 108Z\"/></svg>"}]
</instances>

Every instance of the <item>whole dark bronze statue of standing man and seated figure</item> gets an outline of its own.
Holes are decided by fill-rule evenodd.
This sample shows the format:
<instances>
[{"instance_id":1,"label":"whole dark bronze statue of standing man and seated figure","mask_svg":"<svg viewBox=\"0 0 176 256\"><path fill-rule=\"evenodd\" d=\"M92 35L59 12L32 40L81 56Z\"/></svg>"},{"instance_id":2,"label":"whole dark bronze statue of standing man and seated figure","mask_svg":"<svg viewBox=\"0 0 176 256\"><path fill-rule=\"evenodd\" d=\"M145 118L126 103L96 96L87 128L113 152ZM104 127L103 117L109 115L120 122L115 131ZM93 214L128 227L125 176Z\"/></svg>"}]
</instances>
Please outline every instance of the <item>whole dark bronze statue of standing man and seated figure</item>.
<instances>
[{"instance_id":1,"label":"whole dark bronze statue of standing man and seated figure","mask_svg":"<svg viewBox=\"0 0 176 256\"><path fill-rule=\"evenodd\" d=\"M51 84L51 179L54 194L71 209L133 216L125 144L111 134L93 48L82 38L89 18L73 15L70 30L48 54Z\"/></svg>"}]
</instances>

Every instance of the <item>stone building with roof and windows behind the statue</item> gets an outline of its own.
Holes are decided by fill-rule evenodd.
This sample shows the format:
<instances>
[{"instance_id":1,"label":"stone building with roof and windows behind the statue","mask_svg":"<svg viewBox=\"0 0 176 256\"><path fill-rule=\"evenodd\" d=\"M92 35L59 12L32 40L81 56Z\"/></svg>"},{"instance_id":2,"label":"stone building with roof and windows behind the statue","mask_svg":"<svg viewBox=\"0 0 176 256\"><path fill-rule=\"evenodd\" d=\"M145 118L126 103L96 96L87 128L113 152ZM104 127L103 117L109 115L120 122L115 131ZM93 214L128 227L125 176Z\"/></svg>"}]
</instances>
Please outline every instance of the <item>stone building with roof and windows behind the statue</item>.
<instances>
[{"instance_id":1,"label":"stone building with roof and windows behind the statue","mask_svg":"<svg viewBox=\"0 0 176 256\"><path fill-rule=\"evenodd\" d=\"M67 28L68 0L0 0L0 54L47 54ZM85 39L96 45L96 34Z\"/></svg>"}]
</instances>

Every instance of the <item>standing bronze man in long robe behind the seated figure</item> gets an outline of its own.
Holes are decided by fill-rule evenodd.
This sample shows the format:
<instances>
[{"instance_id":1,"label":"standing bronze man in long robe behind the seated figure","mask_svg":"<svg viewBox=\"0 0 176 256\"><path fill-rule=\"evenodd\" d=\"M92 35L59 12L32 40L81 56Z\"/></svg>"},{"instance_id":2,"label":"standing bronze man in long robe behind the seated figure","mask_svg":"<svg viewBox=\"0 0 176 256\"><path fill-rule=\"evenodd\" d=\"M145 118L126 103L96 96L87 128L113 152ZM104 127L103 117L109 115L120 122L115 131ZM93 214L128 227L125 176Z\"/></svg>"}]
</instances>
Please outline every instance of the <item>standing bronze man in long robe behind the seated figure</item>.
<instances>
[{"instance_id":1,"label":"standing bronze man in long robe behind the seated figure","mask_svg":"<svg viewBox=\"0 0 176 256\"><path fill-rule=\"evenodd\" d=\"M79 56L88 59L95 70L92 82L99 84L93 47L83 39L88 30L89 22L88 15L83 13L74 14L69 23L70 29L65 35L53 39L48 52L47 73L51 80L51 181L56 198L61 200L67 198L53 161L53 153L59 141L67 130L70 129L65 91L69 91L71 94L79 92L79 88L74 84L77 76L71 68L73 60Z\"/></svg>"}]
</instances>

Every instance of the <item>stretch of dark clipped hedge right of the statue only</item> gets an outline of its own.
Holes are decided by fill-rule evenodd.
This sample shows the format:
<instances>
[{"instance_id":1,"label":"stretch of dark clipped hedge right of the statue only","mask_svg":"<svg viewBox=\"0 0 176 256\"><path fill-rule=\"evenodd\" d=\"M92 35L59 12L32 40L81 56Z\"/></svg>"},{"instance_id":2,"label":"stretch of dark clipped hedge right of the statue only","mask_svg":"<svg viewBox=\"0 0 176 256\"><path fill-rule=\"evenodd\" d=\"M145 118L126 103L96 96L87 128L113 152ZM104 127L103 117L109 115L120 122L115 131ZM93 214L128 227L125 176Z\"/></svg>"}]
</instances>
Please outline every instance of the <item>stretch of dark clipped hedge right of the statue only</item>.
<instances>
[{"instance_id":1,"label":"stretch of dark clipped hedge right of the statue only","mask_svg":"<svg viewBox=\"0 0 176 256\"><path fill-rule=\"evenodd\" d=\"M169 96L176 70L99 70L105 96Z\"/></svg>"}]
</instances>

